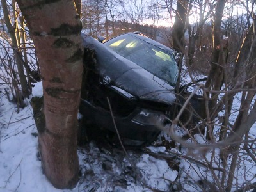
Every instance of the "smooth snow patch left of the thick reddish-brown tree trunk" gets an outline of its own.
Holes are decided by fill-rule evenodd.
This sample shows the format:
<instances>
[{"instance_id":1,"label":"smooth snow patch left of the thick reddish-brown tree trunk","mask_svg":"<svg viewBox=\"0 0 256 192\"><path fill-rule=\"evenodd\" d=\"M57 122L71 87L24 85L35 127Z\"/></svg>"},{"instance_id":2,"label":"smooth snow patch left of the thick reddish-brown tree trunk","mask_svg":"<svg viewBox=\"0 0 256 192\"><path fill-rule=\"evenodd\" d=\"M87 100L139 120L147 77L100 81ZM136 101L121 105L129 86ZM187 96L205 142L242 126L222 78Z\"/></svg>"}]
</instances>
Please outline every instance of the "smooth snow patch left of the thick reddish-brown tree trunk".
<instances>
[{"instance_id":1,"label":"smooth snow patch left of the thick reddish-brown tree trunk","mask_svg":"<svg viewBox=\"0 0 256 192\"><path fill-rule=\"evenodd\" d=\"M31 106L17 113L6 95L1 93L0 100L0 191L60 191L42 174L36 157L38 144L31 135L36 132Z\"/></svg>"}]
</instances>

